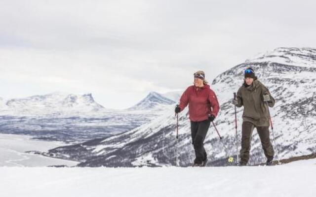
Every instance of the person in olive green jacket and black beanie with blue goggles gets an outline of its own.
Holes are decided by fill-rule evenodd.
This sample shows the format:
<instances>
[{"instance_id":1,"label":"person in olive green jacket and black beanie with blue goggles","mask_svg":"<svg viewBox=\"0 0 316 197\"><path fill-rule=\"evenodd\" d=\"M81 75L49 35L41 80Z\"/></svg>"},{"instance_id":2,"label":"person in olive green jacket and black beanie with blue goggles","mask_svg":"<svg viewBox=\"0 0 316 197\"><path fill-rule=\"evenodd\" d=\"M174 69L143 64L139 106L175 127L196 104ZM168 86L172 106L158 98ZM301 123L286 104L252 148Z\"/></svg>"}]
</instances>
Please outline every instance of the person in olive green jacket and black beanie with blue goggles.
<instances>
[{"instance_id":1,"label":"person in olive green jacket and black beanie with blue goggles","mask_svg":"<svg viewBox=\"0 0 316 197\"><path fill-rule=\"evenodd\" d=\"M233 104L243 106L242 134L239 165L246 165L249 160L250 141L252 131L257 129L262 148L267 158L267 165L271 165L274 150L270 140L268 105L273 107L276 100L255 76L254 70L249 67L244 71L244 83L238 89L237 97Z\"/></svg>"}]
</instances>

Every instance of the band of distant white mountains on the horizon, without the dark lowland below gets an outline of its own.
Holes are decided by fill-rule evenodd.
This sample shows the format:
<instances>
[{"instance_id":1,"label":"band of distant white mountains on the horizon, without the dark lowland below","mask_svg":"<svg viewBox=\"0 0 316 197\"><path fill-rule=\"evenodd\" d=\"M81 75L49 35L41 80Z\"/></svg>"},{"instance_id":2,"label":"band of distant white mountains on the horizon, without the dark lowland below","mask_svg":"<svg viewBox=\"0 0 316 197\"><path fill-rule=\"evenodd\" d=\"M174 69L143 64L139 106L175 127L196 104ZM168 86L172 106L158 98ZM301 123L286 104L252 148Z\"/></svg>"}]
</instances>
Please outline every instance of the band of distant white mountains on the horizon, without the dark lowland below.
<instances>
[{"instance_id":1,"label":"band of distant white mountains on the horizon, without the dark lowland below","mask_svg":"<svg viewBox=\"0 0 316 197\"><path fill-rule=\"evenodd\" d=\"M126 110L154 110L160 106L174 104L180 98L178 92L166 93L165 95L150 92L144 99ZM0 114L3 115L97 116L102 113L119 111L125 110L106 109L93 99L92 94L74 95L56 92L27 98L9 99L7 101L0 98Z\"/></svg>"}]
</instances>

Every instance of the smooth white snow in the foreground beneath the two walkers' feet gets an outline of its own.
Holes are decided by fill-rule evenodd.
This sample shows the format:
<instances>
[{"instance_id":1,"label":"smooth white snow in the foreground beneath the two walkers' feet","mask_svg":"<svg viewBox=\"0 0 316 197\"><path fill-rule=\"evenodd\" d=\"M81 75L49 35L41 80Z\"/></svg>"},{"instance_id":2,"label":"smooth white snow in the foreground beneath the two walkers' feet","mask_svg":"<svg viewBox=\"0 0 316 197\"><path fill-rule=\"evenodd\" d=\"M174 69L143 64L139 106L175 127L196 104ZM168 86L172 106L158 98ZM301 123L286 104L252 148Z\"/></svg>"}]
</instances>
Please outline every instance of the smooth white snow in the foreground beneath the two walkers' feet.
<instances>
[{"instance_id":1,"label":"smooth white snow in the foreground beneath the two walkers' feet","mask_svg":"<svg viewBox=\"0 0 316 197\"><path fill-rule=\"evenodd\" d=\"M316 159L279 166L0 167L0 197L315 197Z\"/></svg>"}]
</instances>

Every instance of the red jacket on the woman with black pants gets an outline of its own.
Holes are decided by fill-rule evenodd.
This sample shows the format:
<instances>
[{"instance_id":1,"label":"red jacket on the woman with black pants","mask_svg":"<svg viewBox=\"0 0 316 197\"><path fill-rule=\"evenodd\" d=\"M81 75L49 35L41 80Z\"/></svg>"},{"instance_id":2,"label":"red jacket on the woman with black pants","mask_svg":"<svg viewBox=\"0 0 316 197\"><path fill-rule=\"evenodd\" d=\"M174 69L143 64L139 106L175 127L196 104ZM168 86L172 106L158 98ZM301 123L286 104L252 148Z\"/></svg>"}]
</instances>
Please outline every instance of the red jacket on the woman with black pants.
<instances>
[{"instance_id":1,"label":"red jacket on the woman with black pants","mask_svg":"<svg viewBox=\"0 0 316 197\"><path fill-rule=\"evenodd\" d=\"M215 117L219 111L219 103L213 90L209 85L199 88L190 86L180 98L181 111L189 104L189 118L191 121L199 122L208 119L208 114Z\"/></svg>"}]
</instances>

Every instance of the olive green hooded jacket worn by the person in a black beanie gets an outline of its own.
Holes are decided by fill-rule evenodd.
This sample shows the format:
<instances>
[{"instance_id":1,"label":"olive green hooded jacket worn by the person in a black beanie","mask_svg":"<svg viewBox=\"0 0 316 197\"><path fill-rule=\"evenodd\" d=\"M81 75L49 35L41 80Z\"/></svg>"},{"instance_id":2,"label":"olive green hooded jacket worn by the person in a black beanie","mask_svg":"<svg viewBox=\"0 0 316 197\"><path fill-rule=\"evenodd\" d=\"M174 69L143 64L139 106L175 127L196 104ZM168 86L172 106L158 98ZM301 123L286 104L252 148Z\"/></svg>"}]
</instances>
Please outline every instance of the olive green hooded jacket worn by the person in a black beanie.
<instances>
[{"instance_id":1,"label":"olive green hooded jacket worn by the person in a black beanie","mask_svg":"<svg viewBox=\"0 0 316 197\"><path fill-rule=\"evenodd\" d=\"M243 122L251 122L256 127L269 127L269 113L267 103L263 101L263 95L268 94L270 107L273 107L276 100L271 96L268 88L266 88L259 80L254 79L252 85L246 87L246 84L238 89L237 107L243 106L242 120Z\"/></svg>"}]
</instances>

